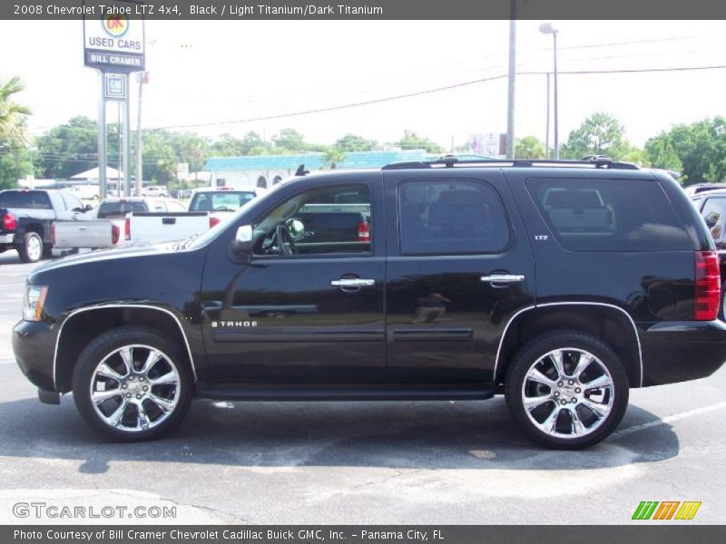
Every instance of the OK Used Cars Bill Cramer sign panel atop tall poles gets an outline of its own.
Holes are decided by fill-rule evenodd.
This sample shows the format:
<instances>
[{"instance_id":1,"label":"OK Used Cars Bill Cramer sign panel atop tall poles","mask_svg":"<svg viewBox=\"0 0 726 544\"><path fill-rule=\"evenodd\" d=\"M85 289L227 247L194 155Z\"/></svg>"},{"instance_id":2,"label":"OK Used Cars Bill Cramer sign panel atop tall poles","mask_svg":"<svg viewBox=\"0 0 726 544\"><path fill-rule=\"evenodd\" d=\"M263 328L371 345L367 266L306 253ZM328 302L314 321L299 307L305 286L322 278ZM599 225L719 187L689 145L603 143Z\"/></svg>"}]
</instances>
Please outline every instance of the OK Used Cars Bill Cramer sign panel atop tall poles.
<instances>
[{"instance_id":1,"label":"OK Used Cars Bill Cramer sign panel atop tall poles","mask_svg":"<svg viewBox=\"0 0 726 544\"><path fill-rule=\"evenodd\" d=\"M102 72L141 72L145 68L143 19L132 17L129 2L85 0L93 15L83 18L86 66Z\"/></svg>"}]
</instances>

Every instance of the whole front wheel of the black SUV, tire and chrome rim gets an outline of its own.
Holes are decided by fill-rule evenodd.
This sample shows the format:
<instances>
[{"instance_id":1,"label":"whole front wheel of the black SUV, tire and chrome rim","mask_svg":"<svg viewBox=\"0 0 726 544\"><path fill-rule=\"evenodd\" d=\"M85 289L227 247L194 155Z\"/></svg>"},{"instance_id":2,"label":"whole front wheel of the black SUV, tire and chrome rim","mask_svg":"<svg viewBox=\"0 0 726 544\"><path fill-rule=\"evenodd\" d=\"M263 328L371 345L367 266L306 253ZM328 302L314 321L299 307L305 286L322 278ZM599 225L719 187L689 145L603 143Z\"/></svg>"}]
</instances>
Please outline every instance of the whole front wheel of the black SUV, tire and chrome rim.
<instances>
[{"instance_id":1,"label":"whole front wheel of the black SUV, tire and chrome rim","mask_svg":"<svg viewBox=\"0 0 726 544\"><path fill-rule=\"evenodd\" d=\"M182 421L191 403L191 375L167 338L123 326L86 346L74 369L73 390L78 411L93 429L139 441Z\"/></svg>"}]
</instances>

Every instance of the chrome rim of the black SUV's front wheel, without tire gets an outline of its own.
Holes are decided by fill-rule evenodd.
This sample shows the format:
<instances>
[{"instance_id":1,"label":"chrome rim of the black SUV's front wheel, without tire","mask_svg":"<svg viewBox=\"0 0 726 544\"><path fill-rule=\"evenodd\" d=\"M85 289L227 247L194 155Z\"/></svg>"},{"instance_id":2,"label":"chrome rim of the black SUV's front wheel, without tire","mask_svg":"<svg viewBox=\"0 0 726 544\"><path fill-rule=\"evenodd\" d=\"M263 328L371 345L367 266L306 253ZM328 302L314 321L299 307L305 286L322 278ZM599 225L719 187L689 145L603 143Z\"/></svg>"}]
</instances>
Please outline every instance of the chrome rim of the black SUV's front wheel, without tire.
<instances>
[{"instance_id":1,"label":"chrome rim of the black SUV's front wheel, without tire","mask_svg":"<svg viewBox=\"0 0 726 544\"><path fill-rule=\"evenodd\" d=\"M91 379L95 412L110 427L141 432L166 421L179 403L179 370L149 345L124 345L103 357Z\"/></svg>"}]
</instances>

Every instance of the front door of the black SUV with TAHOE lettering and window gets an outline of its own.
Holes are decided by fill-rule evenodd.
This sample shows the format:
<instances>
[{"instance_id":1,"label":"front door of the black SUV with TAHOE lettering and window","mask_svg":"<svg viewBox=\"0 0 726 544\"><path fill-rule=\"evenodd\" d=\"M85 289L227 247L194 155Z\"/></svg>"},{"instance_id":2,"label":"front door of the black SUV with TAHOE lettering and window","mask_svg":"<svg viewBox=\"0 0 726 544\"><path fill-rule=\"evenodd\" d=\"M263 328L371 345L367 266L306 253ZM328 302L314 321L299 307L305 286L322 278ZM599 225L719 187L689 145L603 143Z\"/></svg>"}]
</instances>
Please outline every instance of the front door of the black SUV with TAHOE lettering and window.
<instances>
[{"instance_id":1,"label":"front door of the black SUV with TAHOE lettering and window","mask_svg":"<svg viewBox=\"0 0 726 544\"><path fill-rule=\"evenodd\" d=\"M218 239L207 258L201 304L211 377L383 383L381 174L291 185L249 221L249 265L234 262L229 240Z\"/></svg>"}]
</instances>

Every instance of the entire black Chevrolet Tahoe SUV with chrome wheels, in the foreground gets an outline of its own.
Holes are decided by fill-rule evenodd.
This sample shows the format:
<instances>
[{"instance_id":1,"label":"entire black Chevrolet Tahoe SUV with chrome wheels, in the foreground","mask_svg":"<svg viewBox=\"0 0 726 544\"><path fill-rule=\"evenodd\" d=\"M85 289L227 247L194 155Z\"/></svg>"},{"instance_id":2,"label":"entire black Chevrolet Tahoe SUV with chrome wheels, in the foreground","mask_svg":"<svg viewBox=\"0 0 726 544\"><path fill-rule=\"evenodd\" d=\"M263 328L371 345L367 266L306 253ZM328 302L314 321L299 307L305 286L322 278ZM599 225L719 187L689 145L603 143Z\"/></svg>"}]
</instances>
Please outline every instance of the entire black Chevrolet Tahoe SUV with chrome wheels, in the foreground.
<instances>
[{"instance_id":1,"label":"entire black Chevrolet Tahoe SUV with chrome wheels, in the foreground","mask_svg":"<svg viewBox=\"0 0 726 544\"><path fill-rule=\"evenodd\" d=\"M336 206L361 236L306 236L300 210L351 193ZM665 173L449 158L299 176L199 238L38 267L13 345L42 401L73 391L117 439L169 431L194 396L504 393L529 437L575 449L613 432L629 388L721 367L719 292Z\"/></svg>"}]
</instances>

